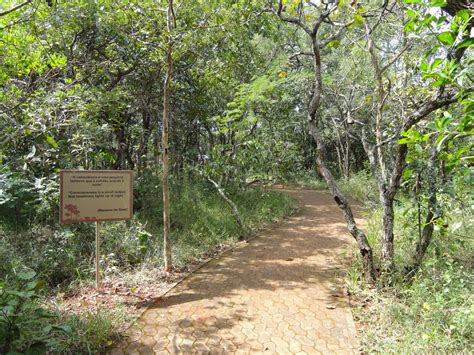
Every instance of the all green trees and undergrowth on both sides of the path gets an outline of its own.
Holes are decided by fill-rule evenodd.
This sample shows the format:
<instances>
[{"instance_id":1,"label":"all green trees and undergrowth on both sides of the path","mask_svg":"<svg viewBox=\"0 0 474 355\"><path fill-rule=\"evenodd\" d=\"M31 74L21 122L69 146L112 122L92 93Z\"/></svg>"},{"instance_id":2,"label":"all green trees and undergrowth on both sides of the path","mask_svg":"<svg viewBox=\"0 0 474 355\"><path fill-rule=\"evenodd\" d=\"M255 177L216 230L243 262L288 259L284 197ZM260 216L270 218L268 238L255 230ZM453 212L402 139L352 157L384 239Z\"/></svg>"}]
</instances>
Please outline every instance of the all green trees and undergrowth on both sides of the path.
<instances>
[{"instance_id":1,"label":"all green trees and undergrowth on both sides of the path","mask_svg":"<svg viewBox=\"0 0 474 355\"><path fill-rule=\"evenodd\" d=\"M367 352L469 351L471 3L3 0L0 352L96 352L128 320L46 305L93 283L93 225L58 222L64 169L135 172L133 219L101 236L105 276L135 279L295 208L252 186L329 188Z\"/></svg>"}]
</instances>

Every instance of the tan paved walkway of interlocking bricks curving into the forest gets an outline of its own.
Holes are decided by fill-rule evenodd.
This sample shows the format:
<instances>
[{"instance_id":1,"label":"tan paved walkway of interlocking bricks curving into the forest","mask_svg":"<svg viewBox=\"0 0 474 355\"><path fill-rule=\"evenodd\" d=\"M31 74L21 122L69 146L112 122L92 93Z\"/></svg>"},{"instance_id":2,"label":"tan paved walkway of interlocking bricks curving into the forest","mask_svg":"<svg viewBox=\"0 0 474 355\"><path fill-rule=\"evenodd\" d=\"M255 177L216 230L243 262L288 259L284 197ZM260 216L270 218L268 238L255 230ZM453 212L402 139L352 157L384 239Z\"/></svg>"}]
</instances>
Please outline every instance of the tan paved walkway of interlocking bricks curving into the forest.
<instances>
[{"instance_id":1,"label":"tan paved walkway of interlocking bricks curving into the forest","mask_svg":"<svg viewBox=\"0 0 474 355\"><path fill-rule=\"evenodd\" d=\"M185 279L111 353L357 353L338 281L342 214L324 192L285 191L297 215Z\"/></svg>"}]
</instances>

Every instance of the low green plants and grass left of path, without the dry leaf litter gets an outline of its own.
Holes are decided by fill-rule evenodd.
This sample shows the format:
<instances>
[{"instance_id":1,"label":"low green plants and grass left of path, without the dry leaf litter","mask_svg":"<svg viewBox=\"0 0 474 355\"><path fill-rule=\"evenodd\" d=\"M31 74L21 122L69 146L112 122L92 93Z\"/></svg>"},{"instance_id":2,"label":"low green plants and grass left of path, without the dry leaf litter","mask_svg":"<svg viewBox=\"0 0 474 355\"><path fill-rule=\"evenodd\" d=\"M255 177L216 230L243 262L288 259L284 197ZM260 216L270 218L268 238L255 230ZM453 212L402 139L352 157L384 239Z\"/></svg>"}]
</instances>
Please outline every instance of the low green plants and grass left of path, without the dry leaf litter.
<instances>
[{"instance_id":1,"label":"low green plants and grass left of path, without the dry leaf litter","mask_svg":"<svg viewBox=\"0 0 474 355\"><path fill-rule=\"evenodd\" d=\"M156 270L159 275L163 266L163 207L161 199L156 198L159 179L148 175L136 190L143 197L134 219L130 223L103 224L101 265L105 275L134 270L139 273L143 268ZM171 214L176 268L204 260L214 251L239 241L243 231L214 187L182 181L171 191L175 196ZM23 196L20 190L15 193ZM259 188L235 189L230 196L242 211L247 233L280 220L297 207L291 198ZM32 218L36 220L39 216ZM50 293L48 289L59 287L59 291L92 283L93 226L61 226L49 220L35 229L6 221L3 227L0 279L5 281L0 283L0 307L7 313L0 317L0 339L10 347L4 351L95 353L110 345L128 320L123 309L68 315L44 302Z\"/></svg>"}]
</instances>

